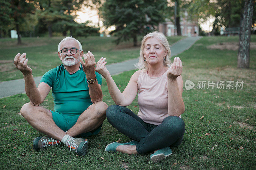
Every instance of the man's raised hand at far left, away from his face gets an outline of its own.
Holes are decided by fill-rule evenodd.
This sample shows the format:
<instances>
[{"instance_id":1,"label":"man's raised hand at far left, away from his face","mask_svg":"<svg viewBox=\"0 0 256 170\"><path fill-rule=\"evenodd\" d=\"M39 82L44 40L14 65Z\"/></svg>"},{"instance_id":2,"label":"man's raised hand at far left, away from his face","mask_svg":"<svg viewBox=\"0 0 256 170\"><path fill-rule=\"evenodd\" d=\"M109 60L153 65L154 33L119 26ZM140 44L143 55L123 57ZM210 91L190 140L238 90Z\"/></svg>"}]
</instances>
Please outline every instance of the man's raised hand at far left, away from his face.
<instances>
[{"instance_id":1,"label":"man's raised hand at far left, away from his face","mask_svg":"<svg viewBox=\"0 0 256 170\"><path fill-rule=\"evenodd\" d=\"M17 69L19 69L23 75L26 74L31 74L32 73L32 69L30 67L28 67L28 58L26 59L26 53L23 53L20 55L20 53L18 53L14 60L14 65Z\"/></svg>"}]
</instances>

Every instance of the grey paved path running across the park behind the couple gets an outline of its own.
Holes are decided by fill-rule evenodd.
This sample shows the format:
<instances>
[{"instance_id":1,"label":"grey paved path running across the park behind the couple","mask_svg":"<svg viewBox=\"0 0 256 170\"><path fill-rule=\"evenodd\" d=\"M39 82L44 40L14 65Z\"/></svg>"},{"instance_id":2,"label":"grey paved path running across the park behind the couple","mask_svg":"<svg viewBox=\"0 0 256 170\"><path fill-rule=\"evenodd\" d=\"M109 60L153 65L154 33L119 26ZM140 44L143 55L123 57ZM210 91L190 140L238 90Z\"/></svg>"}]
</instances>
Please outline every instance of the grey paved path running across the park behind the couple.
<instances>
[{"instance_id":1,"label":"grey paved path running across the park behind the couple","mask_svg":"<svg viewBox=\"0 0 256 170\"><path fill-rule=\"evenodd\" d=\"M171 55L175 56L183 51L190 48L197 40L201 37L187 37L184 38L171 46ZM114 63L107 65L107 69L111 75L118 74L124 71L134 70L134 64L138 62L138 58L124 61L121 63ZM36 85L39 84L41 77L35 77ZM14 94L24 93L25 92L25 82L24 79L11 80L0 82L0 98L11 96Z\"/></svg>"}]
</instances>

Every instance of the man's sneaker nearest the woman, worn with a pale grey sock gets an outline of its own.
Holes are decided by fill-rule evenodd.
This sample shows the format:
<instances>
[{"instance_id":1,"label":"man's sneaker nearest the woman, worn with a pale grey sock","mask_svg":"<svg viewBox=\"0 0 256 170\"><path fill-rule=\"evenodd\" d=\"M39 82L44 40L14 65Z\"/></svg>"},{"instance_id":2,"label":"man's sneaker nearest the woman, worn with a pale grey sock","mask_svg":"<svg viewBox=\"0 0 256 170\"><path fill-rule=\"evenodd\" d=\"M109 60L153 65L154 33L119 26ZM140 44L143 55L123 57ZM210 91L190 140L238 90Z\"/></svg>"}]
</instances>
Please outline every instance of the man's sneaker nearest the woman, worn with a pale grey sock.
<instances>
[{"instance_id":1,"label":"man's sneaker nearest the woman, worn with a pale grey sock","mask_svg":"<svg viewBox=\"0 0 256 170\"><path fill-rule=\"evenodd\" d=\"M87 153L88 143L87 139L76 138L72 139L71 142L68 142L67 146L69 147L70 151L71 149L76 151L78 156L85 156Z\"/></svg>"}]
</instances>

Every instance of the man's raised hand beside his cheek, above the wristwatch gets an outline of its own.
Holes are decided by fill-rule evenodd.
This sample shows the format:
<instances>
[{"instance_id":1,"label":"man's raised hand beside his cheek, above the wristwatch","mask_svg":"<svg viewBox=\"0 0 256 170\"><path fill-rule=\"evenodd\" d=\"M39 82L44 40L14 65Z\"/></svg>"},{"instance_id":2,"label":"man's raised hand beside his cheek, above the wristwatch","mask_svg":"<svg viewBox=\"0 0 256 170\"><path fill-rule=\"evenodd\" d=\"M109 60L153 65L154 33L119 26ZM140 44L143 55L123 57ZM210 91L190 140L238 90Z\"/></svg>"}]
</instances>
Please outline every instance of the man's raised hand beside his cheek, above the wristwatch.
<instances>
[{"instance_id":1,"label":"man's raised hand beside his cheek, above the wristwatch","mask_svg":"<svg viewBox=\"0 0 256 170\"><path fill-rule=\"evenodd\" d=\"M83 66L83 70L85 73L95 73L94 72L94 67L96 65L96 62L95 62L95 58L94 58L94 55L92 54L92 52L88 51L88 53L84 54L83 55L84 57L84 60L82 57L80 57L80 62Z\"/></svg>"}]
</instances>

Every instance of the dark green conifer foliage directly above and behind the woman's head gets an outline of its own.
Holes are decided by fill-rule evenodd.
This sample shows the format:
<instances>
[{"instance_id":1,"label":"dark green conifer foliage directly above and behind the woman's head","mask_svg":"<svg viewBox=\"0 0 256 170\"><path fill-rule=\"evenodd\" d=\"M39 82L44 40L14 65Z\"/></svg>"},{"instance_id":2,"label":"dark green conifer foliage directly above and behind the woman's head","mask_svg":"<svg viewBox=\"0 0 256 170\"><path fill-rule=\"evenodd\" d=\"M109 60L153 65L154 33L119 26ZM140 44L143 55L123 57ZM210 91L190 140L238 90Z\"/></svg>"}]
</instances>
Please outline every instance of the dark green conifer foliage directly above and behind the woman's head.
<instances>
[{"instance_id":1,"label":"dark green conifer foliage directly above and behind the woman's head","mask_svg":"<svg viewBox=\"0 0 256 170\"><path fill-rule=\"evenodd\" d=\"M166 0L108 0L103 5L103 16L107 26L116 26L111 34L118 37L117 44L132 39L136 46L139 35L154 30L163 21L166 7Z\"/></svg>"}]
</instances>

